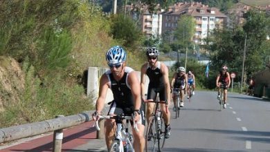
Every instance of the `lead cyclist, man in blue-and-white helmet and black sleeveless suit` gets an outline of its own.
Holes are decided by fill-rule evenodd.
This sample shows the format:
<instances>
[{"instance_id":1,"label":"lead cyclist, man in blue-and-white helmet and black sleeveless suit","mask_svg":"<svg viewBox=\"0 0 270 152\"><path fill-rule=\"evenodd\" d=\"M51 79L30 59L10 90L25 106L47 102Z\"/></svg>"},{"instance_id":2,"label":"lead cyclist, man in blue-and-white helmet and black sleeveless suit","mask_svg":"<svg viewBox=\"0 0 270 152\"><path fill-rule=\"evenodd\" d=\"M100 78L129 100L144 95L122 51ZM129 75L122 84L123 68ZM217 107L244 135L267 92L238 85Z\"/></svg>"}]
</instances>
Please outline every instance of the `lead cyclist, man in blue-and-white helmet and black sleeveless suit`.
<instances>
[{"instance_id":1,"label":"lead cyclist, man in blue-and-white helmet and black sleeveless suit","mask_svg":"<svg viewBox=\"0 0 270 152\"><path fill-rule=\"evenodd\" d=\"M108 88L111 89L114 100L111 102L108 115L117 115L124 113L125 115L135 115L135 122L138 126L138 132L132 127L134 135L135 151L143 151L145 139L143 136L145 129L145 118L143 114L143 106L141 103L141 89L139 79L130 67L126 64L125 50L120 46L114 46L107 51L106 60L109 66L102 77L100 78L99 96L96 101L96 112L92 114L93 120L97 121L102 109L105 106L105 99ZM105 140L107 149L109 149L114 140L114 125L115 120L105 121ZM132 123L133 124L133 123Z\"/></svg>"}]
</instances>

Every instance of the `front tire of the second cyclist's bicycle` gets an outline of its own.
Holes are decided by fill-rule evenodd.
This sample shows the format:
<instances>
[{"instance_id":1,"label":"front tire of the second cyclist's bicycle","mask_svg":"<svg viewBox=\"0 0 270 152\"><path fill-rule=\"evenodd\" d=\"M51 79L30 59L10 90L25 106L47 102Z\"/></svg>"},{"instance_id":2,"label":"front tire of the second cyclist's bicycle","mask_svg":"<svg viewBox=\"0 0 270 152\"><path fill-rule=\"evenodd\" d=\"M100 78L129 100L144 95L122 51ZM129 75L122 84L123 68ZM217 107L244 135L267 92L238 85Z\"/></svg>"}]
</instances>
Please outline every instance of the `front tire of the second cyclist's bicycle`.
<instances>
[{"instance_id":1,"label":"front tire of the second cyclist's bicycle","mask_svg":"<svg viewBox=\"0 0 270 152\"><path fill-rule=\"evenodd\" d=\"M145 135L145 150L156 151L157 150L157 133L156 133L156 117L150 117L149 124L147 125L147 131Z\"/></svg>"}]
</instances>

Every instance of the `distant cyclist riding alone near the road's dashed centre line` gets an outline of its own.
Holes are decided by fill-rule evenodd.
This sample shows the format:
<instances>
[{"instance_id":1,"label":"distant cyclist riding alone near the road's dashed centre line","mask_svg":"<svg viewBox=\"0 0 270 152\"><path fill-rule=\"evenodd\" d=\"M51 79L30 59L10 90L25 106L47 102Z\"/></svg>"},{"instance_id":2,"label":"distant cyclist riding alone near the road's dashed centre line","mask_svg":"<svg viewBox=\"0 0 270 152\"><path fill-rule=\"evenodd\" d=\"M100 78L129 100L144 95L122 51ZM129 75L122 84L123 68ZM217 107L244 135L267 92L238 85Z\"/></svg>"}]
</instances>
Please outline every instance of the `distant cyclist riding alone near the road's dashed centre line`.
<instances>
[{"instance_id":1,"label":"distant cyclist riding alone near the road's dashed centre line","mask_svg":"<svg viewBox=\"0 0 270 152\"><path fill-rule=\"evenodd\" d=\"M224 84L224 105L223 108L226 108L226 103L227 103L227 88L231 84L231 78L230 74L228 73L228 67L227 66L222 66L222 70L219 71L219 74L217 75L216 79L216 85L217 85L217 99L220 99L220 86Z\"/></svg>"}]
</instances>

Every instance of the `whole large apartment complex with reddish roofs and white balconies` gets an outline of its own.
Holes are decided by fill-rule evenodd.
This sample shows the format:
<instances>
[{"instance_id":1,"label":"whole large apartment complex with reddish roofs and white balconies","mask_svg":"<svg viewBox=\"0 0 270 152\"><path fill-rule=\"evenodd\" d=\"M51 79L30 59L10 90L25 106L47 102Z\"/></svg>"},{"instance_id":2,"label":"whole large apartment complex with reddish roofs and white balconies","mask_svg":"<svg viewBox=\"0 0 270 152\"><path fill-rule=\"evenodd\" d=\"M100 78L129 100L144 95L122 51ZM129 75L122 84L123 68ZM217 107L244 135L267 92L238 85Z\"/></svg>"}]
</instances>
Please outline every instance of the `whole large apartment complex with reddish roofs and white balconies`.
<instances>
[{"instance_id":1,"label":"whole large apartment complex with reddish roofs and white balconies","mask_svg":"<svg viewBox=\"0 0 270 152\"><path fill-rule=\"evenodd\" d=\"M216 27L222 28L227 19L226 15L217 8L209 8L201 2L175 3L166 12L158 5L156 10L156 12L150 13L147 6L142 3L127 6L129 12L141 12L139 15L141 29L147 37L161 36L166 32L173 34L181 15L191 15L196 21L196 32L192 39L197 44L202 43L201 39L207 37L209 30ZM138 15L135 16L138 19Z\"/></svg>"}]
</instances>

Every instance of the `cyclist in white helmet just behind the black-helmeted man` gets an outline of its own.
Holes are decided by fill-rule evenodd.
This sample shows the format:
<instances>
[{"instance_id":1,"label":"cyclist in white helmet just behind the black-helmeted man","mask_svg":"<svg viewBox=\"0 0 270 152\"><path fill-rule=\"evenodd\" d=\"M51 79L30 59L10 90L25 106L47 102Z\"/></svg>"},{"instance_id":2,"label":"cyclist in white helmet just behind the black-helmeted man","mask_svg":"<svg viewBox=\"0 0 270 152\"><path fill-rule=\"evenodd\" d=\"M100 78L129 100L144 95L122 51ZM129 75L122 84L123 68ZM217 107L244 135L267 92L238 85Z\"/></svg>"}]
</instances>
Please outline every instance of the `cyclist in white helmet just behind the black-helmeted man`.
<instances>
[{"instance_id":1,"label":"cyclist in white helmet just behind the black-helmeted man","mask_svg":"<svg viewBox=\"0 0 270 152\"><path fill-rule=\"evenodd\" d=\"M175 92L176 88L180 88L180 107L183 107L183 94L185 94L185 92L187 91L187 85L186 83L188 82L188 77L186 75L186 68L184 68L183 66L180 66L179 68L177 68L177 72L174 73L174 75L172 76L172 81L171 81L171 86L173 88L173 92ZM176 100L177 97L176 95L174 95L173 93L173 97L172 99L174 99L174 111L176 110ZM178 107L179 108L179 107Z\"/></svg>"}]
</instances>

